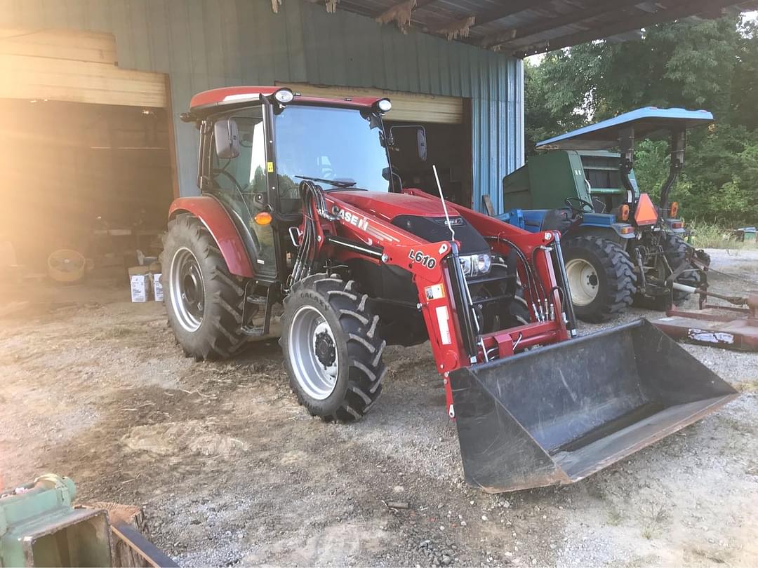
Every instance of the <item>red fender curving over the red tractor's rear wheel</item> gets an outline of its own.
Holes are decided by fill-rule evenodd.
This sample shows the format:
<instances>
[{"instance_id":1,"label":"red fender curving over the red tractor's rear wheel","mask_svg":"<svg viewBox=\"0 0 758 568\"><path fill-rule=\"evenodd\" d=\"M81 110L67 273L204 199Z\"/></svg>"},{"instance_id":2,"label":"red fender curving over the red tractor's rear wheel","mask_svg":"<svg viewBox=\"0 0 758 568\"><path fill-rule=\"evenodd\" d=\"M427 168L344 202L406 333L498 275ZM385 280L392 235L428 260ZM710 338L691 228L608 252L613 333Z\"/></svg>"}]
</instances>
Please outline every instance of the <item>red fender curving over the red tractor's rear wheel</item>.
<instances>
[{"instance_id":1,"label":"red fender curving over the red tractor's rear wheel","mask_svg":"<svg viewBox=\"0 0 758 568\"><path fill-rule=\"evenodd\" d=\"M168 209L168 218L173 219L180 213L191 213L205 225L218 244L230 273L246 278L255 277L240 234L218 201L207 195L180 197L174 199Z\"/></svg>"}]
</instances>

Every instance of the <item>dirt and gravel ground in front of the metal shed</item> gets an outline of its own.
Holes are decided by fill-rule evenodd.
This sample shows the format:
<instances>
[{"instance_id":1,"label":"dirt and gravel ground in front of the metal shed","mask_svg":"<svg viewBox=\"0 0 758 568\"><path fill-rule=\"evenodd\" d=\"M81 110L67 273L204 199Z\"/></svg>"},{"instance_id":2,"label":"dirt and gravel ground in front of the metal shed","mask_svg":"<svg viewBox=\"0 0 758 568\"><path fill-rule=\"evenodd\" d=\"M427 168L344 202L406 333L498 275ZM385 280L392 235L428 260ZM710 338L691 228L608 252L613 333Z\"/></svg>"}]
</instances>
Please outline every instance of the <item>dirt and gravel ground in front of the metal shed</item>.
<instances>
[{"instance_id":1,"label":"dirt and gravel ground in front of the metal shed","mask_svg":"<svg viewBox=\"0 0 758 568\"><path fill-rule=\"evenodd\" d=\"M758 280L758 251L712 254ZM388 349L384 395L337 426L296 404L276 342L195 363L121 282L17 294L32 304L0 320L2 482L52 471L80 503L143 505L180 565L758 566L758 354L686 346L741 397L578 484L486 495L463 481L428 345Z\"/></svg>"}]
</instances>

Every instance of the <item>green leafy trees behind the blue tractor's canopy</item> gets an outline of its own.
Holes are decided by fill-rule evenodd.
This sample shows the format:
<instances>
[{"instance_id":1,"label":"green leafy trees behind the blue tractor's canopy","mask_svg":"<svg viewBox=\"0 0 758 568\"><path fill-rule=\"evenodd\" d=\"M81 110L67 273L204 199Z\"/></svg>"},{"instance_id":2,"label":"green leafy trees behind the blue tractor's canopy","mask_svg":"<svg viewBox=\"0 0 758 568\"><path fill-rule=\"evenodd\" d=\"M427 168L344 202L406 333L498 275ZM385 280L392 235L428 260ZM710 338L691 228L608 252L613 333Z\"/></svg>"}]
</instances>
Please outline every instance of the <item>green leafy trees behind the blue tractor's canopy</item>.
<instances>
[{"instance_id":1,"label":"green leafy trees behind the blue tractor's canopy","mask_svg":"<svg viewBox=\"0 0 758 568\"><path fill-rule=\"evenodd\" d=\"M526 66L526 130L536 142L644 106L706 108L675 189L688 217L758 221L758 30L738 16L650 28L637 42L590 42ZM534 108L537 105L538 108ZM532 146L528 146L532 149ZM665 144L637 146L641 187L657 192Z\"/></svg>"}]
</instances>

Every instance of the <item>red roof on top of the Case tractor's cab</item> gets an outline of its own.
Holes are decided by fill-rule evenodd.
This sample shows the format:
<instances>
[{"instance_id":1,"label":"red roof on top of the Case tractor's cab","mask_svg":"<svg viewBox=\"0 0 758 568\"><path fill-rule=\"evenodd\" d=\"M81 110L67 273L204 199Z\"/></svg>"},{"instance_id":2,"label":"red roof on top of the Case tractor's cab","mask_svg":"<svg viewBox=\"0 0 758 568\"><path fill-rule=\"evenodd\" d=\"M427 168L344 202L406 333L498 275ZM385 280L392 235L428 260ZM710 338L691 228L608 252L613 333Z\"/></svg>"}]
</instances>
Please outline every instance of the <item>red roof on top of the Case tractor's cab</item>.
<instances>
[{"instance_id":1,"label":"red roof on top of the Case tractor's cab","mask_svg":"<svg viewBox=\"0 0 758 568\"><path fill-rule=\"evenodd\" d=\"M236 86L221 87L209 91L199 92L189 101L189 112L193 117L202 118L217 111L223 111L225 107L233 107L244 103L258 101L261 95L268 97L280 89L289 89L285 86ZM387 97L311 97L299 95L296 91L293 102L311 103L345 108L371 108L376 101Z\"/></svg>"}]
</instances>

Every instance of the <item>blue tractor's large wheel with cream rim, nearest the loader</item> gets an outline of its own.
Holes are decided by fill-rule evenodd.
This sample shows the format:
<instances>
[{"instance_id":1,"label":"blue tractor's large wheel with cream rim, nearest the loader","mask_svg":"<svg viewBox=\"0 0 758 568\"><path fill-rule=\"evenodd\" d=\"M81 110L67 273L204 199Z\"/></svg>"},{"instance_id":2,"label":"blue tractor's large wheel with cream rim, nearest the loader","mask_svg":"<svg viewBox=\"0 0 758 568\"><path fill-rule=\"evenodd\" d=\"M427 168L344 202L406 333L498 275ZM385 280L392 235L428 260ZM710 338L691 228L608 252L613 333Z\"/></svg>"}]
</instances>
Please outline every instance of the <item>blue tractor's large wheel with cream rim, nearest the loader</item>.
<instances>
[{"instance_id":1,"label":"blue tractor's large wheel with cream rim, nearest the loader","mask_svg":"<svg viewBox=\"0 0 758 568\"><path fill-rule=\"evenodd\" d=\"M637 278L627 251L615 242L588 236L568 239L562 249L576 317L589 323L602 323L618 317L631 306ZM572 276L575 267L589 266L594 273L580 270L577 276ZM581 286L579 279L586 286Z\"/></svg>"}]
</instances>

